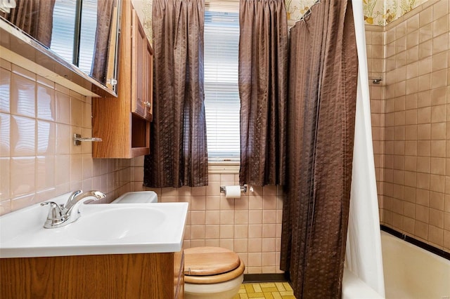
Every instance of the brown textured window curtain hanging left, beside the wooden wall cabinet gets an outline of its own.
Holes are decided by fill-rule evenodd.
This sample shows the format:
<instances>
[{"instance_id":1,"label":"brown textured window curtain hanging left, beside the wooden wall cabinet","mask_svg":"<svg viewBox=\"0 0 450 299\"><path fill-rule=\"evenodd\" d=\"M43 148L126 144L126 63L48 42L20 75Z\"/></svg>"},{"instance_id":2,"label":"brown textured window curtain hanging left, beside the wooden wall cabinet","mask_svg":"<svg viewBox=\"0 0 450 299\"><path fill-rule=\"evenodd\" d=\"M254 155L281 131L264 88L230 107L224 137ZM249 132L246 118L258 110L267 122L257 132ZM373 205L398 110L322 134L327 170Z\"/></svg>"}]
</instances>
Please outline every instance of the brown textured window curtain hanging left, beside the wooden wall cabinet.
<instances>
[{"instance_id":1,"label":"brown textured window curtain hanging left, beside the wooden wall cabinet","mask_svg":"<svg viewBox=\"0 0 450 299\"><path fill-rule=\"evenodd\" d=\"M205 3L153 1L155 53L148 187L205 186L208 182L203 25Z\"/></svg>"}]
</instances>

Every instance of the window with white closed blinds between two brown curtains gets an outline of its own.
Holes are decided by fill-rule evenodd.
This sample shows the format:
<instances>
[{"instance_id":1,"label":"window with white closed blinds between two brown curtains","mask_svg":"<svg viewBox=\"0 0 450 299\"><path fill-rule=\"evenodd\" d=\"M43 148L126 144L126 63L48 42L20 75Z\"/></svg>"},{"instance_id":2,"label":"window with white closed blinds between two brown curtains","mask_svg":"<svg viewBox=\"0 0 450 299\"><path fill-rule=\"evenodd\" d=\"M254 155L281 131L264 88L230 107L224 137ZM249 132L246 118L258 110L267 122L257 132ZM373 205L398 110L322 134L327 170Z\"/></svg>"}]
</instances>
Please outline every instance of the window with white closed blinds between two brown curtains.
<instances>
[{"instance_id":1,"label":"window with white closed blinds between two brown curtains","mask_svg":"<svg viewBox=\"0 0 450 299\"><path fill-rule=\"evenodd\" d=\"M206 11L204 41L208 157L239 161L238 13Z\"/></svg>"}]
</instances>

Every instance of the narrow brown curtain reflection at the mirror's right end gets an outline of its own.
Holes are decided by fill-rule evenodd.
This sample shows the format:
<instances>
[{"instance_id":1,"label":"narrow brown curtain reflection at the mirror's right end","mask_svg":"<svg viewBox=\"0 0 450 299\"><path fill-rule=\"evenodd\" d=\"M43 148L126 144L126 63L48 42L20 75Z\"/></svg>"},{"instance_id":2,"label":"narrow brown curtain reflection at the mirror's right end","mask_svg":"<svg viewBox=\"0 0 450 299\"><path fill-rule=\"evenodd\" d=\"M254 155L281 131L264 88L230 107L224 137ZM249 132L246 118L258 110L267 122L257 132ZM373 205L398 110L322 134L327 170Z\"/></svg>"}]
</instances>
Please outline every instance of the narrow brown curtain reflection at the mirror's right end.
<instances>
[{"instance_id":1,"label":"narrow brown curtain reflection at the mirror's right end","mask_svg":"<svg viewBox=\"0 0 450 299\"><path fill-rule=\"evenodd\" d=\"M98 0L97 2L97 28L92 61L91 76L103 83L106 82L106 65L108 63L108 48L110 46L111 21L115 0Z\"/></svg>"}]
</instances>

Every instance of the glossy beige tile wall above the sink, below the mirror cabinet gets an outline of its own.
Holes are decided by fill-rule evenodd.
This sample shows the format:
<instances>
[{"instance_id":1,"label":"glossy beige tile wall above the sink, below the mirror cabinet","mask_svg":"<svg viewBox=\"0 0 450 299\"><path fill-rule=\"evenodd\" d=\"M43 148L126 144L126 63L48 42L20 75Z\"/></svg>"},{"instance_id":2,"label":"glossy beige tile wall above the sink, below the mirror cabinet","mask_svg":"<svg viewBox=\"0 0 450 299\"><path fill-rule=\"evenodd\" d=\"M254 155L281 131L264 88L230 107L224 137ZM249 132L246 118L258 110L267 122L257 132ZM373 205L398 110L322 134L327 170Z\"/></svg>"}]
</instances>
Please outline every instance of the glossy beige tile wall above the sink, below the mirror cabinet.
<instances>
[{"instance_id":1,"label":"glossy beige tile wall above the sink, below the mirror cabinet","mask_svg":"<svg viewBox=\"0 0 450 299\"><path fill-rule=\"evenodd\" d=\"M132 161L92 159L91 98L0 59L0 215L73 190L109 201L130 188Z\"/></svg>"}]
</instances>

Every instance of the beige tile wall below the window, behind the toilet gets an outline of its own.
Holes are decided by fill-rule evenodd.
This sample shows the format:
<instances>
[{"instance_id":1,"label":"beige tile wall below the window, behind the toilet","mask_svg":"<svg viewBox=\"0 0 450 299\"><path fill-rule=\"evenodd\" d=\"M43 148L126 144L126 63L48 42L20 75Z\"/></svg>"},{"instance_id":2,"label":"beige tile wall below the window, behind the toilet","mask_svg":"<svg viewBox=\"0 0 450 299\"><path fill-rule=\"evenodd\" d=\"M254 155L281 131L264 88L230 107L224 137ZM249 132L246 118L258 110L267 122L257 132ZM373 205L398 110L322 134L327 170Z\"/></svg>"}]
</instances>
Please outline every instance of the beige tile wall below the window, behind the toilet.
<instances>
[{"instance_id":1,"label":"beige tile wall below the window, behind the toilet","mask_svg":"<svg viewBox=\"0 0 450 299\"><path fill-rule=\"evenodd\" d=\"M245 273L281 273L281 187L255 187L226 199L221 186L238 185L238 174L209 174L207 187L142 187L143 158L134 159L134 190L153 190L162 202L189 203L184 246L220 246L238 253Z\"/></svg>"}]
</instances>

